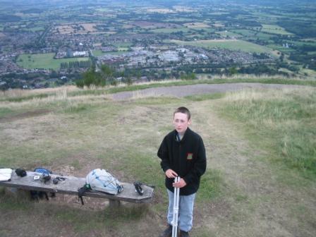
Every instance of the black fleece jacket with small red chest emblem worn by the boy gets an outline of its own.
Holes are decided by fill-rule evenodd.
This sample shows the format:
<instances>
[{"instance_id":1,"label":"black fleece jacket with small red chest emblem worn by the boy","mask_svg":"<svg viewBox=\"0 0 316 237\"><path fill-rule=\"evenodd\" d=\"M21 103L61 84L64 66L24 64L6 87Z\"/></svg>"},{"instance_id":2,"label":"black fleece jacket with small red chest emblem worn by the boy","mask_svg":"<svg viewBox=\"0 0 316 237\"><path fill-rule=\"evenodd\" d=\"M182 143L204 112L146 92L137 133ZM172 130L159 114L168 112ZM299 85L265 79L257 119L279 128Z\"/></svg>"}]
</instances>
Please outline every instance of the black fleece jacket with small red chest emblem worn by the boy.
<instances>
[{"instance_id":1,"label":"black fleece jacket with small red chest emblem worn by the boy","mask_svg":"<svg viewBox=\"0 0 316 237\"><path fill-rule=\"evenodd\" d=\"M182 140L176 138L177 131L173 130L164 137L157 155L162 162L164 172L167 169L176 171L176 174L186 181L186 186L180 188L180 195L190 195L197 192L200 186L200 176L205 173L206 155L202 138L187 128ZM166 188L174 192L174 178L166 177Z\"/></svg>"}]
</instances>

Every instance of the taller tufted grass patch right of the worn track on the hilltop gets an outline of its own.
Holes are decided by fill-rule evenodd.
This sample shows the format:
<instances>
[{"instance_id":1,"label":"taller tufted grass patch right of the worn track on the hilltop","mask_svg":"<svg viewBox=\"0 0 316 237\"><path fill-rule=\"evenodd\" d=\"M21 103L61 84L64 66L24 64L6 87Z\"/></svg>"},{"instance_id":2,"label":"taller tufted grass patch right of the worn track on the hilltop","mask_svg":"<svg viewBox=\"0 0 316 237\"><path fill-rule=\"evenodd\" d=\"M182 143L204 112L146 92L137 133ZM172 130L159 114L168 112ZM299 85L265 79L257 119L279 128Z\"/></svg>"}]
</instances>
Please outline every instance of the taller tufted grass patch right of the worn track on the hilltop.
<instances>
[{"instance_id":1,"label":"taller tufted grass patch right of the worn track on the hilltop","mask_svg":"<svg viewBox=\"0 0 316 237\"><path fill-rule=\"evenodd\" d=\"M316 175L315 92L314 87L243 90L229 93L224 100L229 104L227 114L269 138L267 147L277 152L274 160L312 177Z\"/></svg>"}]
</instances>

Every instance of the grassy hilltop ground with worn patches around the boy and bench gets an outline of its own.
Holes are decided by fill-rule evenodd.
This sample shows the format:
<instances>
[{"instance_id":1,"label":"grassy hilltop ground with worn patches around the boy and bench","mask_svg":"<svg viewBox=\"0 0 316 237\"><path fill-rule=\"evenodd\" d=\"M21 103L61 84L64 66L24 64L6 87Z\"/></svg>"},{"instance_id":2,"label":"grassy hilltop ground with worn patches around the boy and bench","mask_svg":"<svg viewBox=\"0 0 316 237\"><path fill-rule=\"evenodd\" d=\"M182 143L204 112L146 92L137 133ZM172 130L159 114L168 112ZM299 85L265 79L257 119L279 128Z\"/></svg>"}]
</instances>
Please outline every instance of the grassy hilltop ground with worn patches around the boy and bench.
<instances>
[{"instance_id":1,"label":"grassy hilltop ground with worn patches around the boy and bench","mask_svg":"<svg viewBox=\"0 0 316 237\"><path fill-rule=\"evenodd\" d=\"M153 202L113 210L106 200L81 206L77 197L57 195L37 203L2 190L0 236L56 236L56 229L60 236L158 236L167 199L156 153L182 105L208 159L191 236L315 236L315 87L121 102L107 94L56 88L2 95L0 164L82 177L102 167L123 182L154 184Z\"/></svg>"}]
</instances>

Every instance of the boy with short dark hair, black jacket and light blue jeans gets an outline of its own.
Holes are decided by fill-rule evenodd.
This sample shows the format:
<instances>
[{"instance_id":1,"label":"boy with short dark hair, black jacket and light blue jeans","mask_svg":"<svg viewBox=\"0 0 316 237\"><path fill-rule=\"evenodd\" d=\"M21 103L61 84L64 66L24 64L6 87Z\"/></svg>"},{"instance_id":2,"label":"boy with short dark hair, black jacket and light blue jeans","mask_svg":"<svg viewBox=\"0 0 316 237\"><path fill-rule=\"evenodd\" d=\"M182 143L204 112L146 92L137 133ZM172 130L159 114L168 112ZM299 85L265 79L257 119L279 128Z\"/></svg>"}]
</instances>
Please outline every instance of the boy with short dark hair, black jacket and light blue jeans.
<instances>
[{"instance_id":1,"label":"boy with short dark hair, black jacket and light blue jeans","mask_svg":"<svg viewBox=\"0 0 316 237\"><path fill-rule=\"evenodd\" d=\"M200 186L200 176L206 169L205 147L202 138L190 130L190 111L179 107L174 111L174 130L162 140L157 155L166 175L166 188L169 195L168 228L161 237L172 235L172 217L174 212L174 187L180 188L178 227L180 236L189 236L193 226L193 205L195 193ZM174 183L174 178L180 181Z\"/></svg>"}]
</instances>

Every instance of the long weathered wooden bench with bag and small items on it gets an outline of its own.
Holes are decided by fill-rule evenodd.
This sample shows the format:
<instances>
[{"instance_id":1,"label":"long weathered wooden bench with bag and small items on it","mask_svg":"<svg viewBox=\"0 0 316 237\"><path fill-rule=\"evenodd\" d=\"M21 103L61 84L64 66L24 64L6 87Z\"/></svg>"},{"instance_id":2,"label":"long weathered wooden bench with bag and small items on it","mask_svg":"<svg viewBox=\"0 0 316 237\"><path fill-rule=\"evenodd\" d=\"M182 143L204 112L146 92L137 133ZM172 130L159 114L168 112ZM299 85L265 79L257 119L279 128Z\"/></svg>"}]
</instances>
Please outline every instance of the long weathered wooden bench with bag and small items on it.
<instances>
[{"instance_id":1,"label":"long weathered wooden bench with bag and small items on it","mask_svg":"<svg viewBox=\"0 0 316 237\"><path fill-rule=\"evenodd\" d=\"M51 180L44 183L40 180L34 180L34 176L40 176L41 174L27 171L27 176L20 177L16 175L15 170L12 171L10 181L0 181L0 186L19 188L23 190L37 190L51 193L63 193L68 195L78 195L78 188L85 185L85 178L76 178L73 176L60 176L57 174L51 174ZM59 181L57 184L53 184L53 179L56 177L63 177L65 181ZM101 197L109 199L110 206L120 205L120 201L134 202L134 203L146 203L151 202L154 195L154 188L150 186L142 185L144 190L143 195L139 195L135 192L135 186L132 183L121 183L123 185L123 191L118 195L110 195L107 193L101 193L97 191L89 191L84 194L87 197Z\"/></svg>"}]
</instances>

